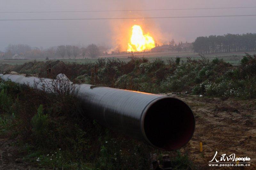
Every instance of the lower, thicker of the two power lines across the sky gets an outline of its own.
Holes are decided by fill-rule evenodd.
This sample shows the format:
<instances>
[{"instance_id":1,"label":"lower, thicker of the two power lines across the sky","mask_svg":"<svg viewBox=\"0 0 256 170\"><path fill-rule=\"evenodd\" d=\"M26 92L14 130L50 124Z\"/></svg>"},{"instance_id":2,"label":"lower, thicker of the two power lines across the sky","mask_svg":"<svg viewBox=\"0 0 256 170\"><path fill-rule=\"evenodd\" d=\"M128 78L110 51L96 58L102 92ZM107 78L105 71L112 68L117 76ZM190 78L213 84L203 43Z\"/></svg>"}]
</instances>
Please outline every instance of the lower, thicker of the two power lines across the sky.
<instances>
[{"instance_id":1,"label":"lower, thicker of the two power lines across the sky","mask_svg":"<svg viewBox=\"0 0 256 170\"><path fill-rule=\"evenodd\" d=\"M177 17L135 17L135 18L63 18L63 19L0 19L0 21L36 21L36 20L108 20L108 19L162 19L162 18L213 18L213 17L252 17L253 15L215 15L215 16L177 16Z\"/></svg>"}]
</instances>

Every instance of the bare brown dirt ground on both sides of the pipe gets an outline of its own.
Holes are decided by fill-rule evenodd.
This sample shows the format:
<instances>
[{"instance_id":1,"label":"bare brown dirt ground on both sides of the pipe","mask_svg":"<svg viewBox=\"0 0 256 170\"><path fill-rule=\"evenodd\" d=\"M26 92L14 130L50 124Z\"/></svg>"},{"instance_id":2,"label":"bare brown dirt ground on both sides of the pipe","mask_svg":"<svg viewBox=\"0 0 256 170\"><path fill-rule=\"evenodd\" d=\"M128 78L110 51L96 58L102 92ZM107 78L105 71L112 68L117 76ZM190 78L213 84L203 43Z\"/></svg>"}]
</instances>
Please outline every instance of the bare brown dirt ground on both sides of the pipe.
<instances>
[{"instance_id":1,"label":"bare brown dirt ground on both sides of the pipe","mask_svg":"<svg viewBox=\"0 0 256 170\"><path fill-rule=\"evenodd\" d=\"M224 153L226 156L235 153L236 157L250 157L250 167L240 168L256 168L256 100L165 95L185 101L195 114L196 130L186 150L196 169L209 169L208 162L216 151L218 160ZM22 161L22 154L13 146L13 141L0 139L0 169L35 169ZM200 142L203 152L199 151Z\"/></svg>"}]
</instances>

